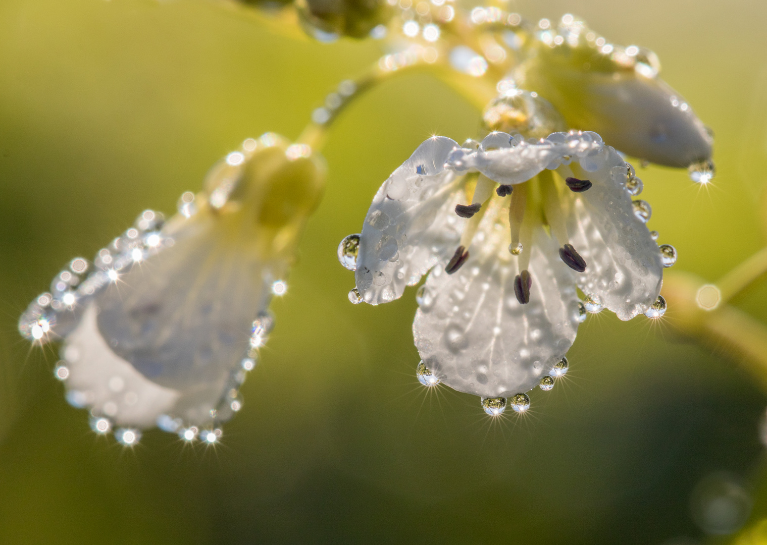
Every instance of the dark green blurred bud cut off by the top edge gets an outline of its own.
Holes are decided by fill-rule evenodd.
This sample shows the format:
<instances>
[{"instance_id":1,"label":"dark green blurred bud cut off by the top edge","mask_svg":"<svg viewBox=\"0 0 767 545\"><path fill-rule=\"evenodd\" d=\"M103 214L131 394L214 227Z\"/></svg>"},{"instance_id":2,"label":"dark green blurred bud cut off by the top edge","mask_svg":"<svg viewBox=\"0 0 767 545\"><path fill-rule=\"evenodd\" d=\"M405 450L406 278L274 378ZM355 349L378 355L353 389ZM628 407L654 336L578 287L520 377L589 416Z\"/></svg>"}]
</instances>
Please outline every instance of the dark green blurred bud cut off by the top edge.
<instances>
[{"instance_id":1,"label":"dark green blurred bud cut off by the top edge","mask_svg":"<svg viewBox=\"0 0 767 545\"><path fill-rule=\"evenodd\" d=\"M301 25L312 37L332 41L339 36L367 38L385 25L390 6L384 0L295 0Z\"/></svg>"}]
</instances>

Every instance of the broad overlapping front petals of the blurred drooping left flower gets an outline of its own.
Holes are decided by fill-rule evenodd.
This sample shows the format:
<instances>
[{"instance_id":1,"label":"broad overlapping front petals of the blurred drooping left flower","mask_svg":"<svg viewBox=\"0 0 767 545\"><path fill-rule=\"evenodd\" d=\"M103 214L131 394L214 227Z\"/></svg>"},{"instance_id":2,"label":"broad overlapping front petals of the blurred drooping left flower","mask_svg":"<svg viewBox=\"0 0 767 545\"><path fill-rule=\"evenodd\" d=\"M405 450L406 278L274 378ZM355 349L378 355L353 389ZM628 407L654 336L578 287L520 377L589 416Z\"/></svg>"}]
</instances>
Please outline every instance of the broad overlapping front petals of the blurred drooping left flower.
<instances>
[{"instance_id":1,"label":"broad overlapping front petals of the blurred drooping left flower","mask_svg":"<svg viewBox=\"0 0 767 545\"><path fill-rule=\"evenodd\" d=\"M231 227L200 212L173 231L172 246L91 297L64 340L71 400L137 427L160 415L187 425L228 418L221 404L239 387L252 321L268 306L268 266L282 266L259 261L248 234Z\"/></svg>"}]
</instances>

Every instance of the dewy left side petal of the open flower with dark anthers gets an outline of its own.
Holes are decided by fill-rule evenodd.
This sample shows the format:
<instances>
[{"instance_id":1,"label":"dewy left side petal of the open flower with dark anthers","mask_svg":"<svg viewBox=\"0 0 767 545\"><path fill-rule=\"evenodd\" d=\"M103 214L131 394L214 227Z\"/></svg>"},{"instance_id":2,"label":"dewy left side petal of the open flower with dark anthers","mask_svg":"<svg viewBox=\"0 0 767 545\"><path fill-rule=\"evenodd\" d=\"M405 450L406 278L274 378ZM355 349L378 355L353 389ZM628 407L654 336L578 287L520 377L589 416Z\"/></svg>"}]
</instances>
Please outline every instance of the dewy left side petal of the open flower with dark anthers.
<instances>
[{"instance_id":1,"label":"dewy left side petal of the open flower with dark anthers","mask_svg":"<svg viewBox=\"0 0 767 545\"><path fill-rule=\"evenodd\" d=\"M458 144L435 136L380 186L360 236L357 290L366 303L397 299L439 261L456 251L466 219L455 213L466 204L456 173L445 169Z\"/></svg>"}]
</instances>

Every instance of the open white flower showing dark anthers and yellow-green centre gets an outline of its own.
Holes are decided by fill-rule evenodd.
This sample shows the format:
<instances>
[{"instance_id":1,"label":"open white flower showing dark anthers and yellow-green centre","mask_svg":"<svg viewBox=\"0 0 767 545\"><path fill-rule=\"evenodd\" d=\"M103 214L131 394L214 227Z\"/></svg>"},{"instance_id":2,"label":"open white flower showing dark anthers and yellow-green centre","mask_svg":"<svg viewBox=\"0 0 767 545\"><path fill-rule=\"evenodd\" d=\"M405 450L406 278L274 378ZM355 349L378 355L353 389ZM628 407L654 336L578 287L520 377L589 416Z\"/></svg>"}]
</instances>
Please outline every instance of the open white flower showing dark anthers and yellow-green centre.
<instances>
[{"instance_id":1,"label":"open white flower showing dark anthers and yellow-green centre","mask_svg":"<svg viewBox=\"0 0 767 545\"><path fill-rule=\"evenodd\" d=\"M358 248L339 248L357 251L350 298L387 303L431 270L413 322L424 373L490 399L550 389L587 308L630 320L660 305L633 173L596 133L491 133L476 149L435 136L381 185Z\"/></svg>"}]
</instances>

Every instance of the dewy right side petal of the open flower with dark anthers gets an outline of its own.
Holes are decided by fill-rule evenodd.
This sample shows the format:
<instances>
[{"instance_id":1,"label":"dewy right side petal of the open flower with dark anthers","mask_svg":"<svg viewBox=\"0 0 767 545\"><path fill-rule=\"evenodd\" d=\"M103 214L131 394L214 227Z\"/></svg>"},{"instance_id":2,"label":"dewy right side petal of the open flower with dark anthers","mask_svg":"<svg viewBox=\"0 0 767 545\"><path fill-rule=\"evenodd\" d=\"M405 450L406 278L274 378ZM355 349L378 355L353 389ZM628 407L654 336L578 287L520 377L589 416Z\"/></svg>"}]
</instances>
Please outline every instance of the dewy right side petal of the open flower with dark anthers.
<instances>
[{"instance_id":1,"label":"dewy right side petal of the open flower with dark anthers","mask_svg":"<svg viewBox=\"0 0 767 545\"><path fill-rule=\"evenodd\" d=\"M621 156L605 146L591 158L588 166L594 165L598 169L588 172L594 185L574 200L568 218L570 242L587 263L586 271L576 275L578 287L600 297L621 320L630 320L660 294L660 251L647 225L634 215Z\"/></svg>"}]
</instances>

